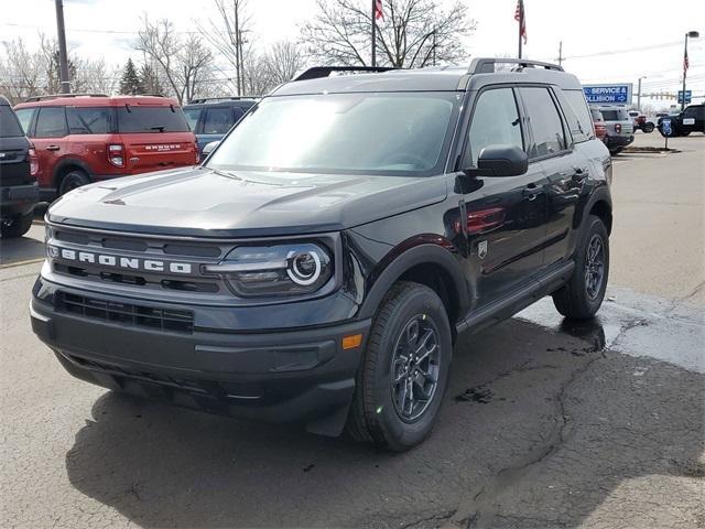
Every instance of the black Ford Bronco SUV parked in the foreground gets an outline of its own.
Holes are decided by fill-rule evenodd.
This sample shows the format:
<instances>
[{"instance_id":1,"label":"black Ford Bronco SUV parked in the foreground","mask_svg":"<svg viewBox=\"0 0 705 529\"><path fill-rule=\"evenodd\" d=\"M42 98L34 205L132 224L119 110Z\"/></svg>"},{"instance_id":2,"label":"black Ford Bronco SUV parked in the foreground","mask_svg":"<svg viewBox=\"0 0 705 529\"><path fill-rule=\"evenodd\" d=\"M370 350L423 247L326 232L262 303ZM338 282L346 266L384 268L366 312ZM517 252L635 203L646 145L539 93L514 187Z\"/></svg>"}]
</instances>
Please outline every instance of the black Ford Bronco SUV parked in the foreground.
<instances>
[{"instance_id":1,"label":"black Ford Bronco SUV parked in the foreground","mask_svg":"<svg viewBox=\"0 0 705 529\"><path fill-rule=\"evenodd\" d=\"M338 69L263 98L199 168L52 205L32 325L72 375L401 451L458 333L546 294L597 312L611 162L573 75Z\"/></svg>"}]
</instances>

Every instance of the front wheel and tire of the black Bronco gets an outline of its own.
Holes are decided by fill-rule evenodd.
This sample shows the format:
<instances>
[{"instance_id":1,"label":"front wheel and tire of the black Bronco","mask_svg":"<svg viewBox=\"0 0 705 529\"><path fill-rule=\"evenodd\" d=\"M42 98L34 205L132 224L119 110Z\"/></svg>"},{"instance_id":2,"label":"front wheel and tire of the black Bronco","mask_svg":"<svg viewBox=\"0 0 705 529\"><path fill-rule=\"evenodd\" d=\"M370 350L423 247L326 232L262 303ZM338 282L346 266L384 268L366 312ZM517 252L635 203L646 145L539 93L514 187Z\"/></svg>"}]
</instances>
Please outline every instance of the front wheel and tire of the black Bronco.
<instances>
[{"instance_id":1,"label":"front wheel and tire of the black Bronco","mask_svg":"<svg viewBox=\"0 0 705 529\"><path fill-rule=\"evenodd\" d=\"M411 349L425 358L414 364L413 355L405 355ZM451 325L438 295L423 284L395 283L372 324L347 432L357 441L394 452L421 443L438 414L452 355ZM419 399L419 392L427 399Z\"/></svg>"}]
</instances>

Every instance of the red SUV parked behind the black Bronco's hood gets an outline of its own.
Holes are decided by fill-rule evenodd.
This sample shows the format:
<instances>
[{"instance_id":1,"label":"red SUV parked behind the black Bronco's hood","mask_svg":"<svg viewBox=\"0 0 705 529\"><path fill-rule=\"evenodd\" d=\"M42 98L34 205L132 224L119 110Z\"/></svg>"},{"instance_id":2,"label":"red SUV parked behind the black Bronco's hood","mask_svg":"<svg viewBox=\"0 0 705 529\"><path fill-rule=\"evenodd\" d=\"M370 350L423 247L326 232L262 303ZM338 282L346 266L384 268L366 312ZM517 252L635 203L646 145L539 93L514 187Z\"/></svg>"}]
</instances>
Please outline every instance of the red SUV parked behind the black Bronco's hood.
<instances>
[{"instance_id":1,"label":"red SUV parked behind the black Bronco's hood","mask_svg":"<svg viewBox=\"0 0 705 529\"><path fill-rule=\"evenodd\" d=\"M175 99L66 94L34 97L14 110L36 149L43 199L94 181L198 163Z\"/></svg>"}]
</instances>

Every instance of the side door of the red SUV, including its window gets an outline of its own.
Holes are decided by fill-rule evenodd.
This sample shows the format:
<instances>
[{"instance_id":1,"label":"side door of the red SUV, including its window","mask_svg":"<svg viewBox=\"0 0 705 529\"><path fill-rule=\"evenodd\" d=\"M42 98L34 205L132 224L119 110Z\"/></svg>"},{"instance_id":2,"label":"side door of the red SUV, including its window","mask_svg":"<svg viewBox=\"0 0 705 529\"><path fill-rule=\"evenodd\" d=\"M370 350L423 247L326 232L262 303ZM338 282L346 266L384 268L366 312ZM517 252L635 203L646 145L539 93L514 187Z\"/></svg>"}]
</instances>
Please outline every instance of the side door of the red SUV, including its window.
<instances>
[{"instance_id":1,"label":"side door of the red SUV, including its window","mask_svg":"<svg viewBox=\"0 0 705 529\"><path fill-rule=\"evenodd\" d=\"M42 188L53 188L54 168L65 154L64 138L68 134L64 107L40 107L32 143L40 164L37 181Z\"/></svg>"}]
</instances>

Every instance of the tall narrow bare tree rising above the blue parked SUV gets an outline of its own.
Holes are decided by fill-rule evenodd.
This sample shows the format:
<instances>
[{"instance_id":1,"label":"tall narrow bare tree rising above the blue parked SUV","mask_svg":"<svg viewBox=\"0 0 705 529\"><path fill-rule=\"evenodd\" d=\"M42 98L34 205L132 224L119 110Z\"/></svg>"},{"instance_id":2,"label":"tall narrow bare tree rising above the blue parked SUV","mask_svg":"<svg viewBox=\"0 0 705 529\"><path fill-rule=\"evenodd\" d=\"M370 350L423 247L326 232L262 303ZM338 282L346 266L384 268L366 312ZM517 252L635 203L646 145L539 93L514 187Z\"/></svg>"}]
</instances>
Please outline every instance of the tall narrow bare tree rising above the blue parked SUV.
<instances>
[{"instance_id":1,"label":"tall narrow bare tree rising above the blue parked SUV","mask_svg":"<svg viewBox=\"0 0 705 529\"><path fill-rule=\"evenodd\" d=\"M227 71L235 71L235 91L242 95L246 90L246 63L251 46L248 46L247 33L250 32L250 17L246 11L248 0L214 0L218 17L206 24L198 24L203 37L216 50Z\"/></svg>"}]
</instances>

